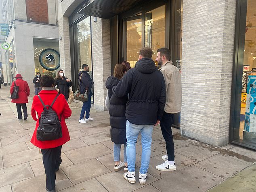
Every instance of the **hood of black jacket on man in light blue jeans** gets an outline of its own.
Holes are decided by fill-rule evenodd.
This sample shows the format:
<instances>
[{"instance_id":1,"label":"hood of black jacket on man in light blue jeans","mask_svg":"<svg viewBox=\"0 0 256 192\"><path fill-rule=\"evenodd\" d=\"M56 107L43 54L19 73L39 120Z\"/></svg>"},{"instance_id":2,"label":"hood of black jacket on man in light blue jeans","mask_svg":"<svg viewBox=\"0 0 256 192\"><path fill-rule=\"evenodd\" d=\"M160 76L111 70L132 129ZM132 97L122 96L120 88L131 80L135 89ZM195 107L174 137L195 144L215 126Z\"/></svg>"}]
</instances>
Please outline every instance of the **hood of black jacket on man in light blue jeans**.
<instances>
[{"instance_id":1,"label":"hood of black jacket on man in light blue jeans","mask_svg":"<svg viewBox=\"0 0 256 192\"><path fill-rule=\"evenodd\" d=\"M141 73L153 73L157 70L155 66L155 62L151 58L141 58L135 64L135 69L140 71Z\"/></svg>"}]
</instances>

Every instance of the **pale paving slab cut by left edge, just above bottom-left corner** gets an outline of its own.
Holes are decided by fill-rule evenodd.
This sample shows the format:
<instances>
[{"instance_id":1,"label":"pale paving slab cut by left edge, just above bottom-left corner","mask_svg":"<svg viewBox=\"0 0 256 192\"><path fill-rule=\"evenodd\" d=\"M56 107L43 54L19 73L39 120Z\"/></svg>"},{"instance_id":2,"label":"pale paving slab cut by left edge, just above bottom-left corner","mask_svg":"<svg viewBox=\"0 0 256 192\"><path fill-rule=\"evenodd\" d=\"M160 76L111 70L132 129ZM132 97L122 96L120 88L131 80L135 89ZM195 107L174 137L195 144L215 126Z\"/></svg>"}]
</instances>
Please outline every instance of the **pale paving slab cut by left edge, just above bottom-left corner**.
<instances>
[{"instance_id":1,"label":"pale paving slab cut by left edge, just above bottom-left corner","mask_svg":"<svg viewBox=\"0 0 256 192\"><path fill-rule=\"evenodd\" d=\"M0 187L34 177L29 163L0 169Z\"/></svg>"}]
</instances>

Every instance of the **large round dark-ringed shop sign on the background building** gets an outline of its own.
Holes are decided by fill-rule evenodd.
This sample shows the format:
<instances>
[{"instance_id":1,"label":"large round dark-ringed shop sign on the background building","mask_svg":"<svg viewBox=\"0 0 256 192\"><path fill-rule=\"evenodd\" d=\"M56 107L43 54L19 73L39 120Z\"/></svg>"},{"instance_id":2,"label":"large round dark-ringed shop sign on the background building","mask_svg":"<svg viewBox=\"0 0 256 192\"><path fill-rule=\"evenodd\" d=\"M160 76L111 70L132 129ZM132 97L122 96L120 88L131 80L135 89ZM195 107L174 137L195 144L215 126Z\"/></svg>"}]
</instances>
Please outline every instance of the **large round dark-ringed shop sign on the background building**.
<instances>
[{"instance_id":1,"label":"large round dark-ringed shop sign on the background building","mask_svg":"<svg viewBox=\"0 0 256 192\"><path fill-rule=\"evenodd\" d=\"M61 66L59 52L54 49L45 49L39 55L40 65L48 70L55 71Z\"/></svg>"}]
</instances>

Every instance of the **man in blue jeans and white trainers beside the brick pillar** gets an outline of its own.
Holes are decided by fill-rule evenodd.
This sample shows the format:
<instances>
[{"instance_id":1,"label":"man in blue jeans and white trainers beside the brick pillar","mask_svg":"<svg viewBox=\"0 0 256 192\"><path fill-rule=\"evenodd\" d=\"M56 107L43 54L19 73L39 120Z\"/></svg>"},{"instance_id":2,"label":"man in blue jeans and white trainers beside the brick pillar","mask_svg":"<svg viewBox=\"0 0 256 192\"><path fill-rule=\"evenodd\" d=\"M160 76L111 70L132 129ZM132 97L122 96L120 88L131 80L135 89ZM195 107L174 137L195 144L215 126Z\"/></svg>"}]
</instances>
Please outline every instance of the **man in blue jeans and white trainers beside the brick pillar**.
<instances>
[{"instance_id":1,"label":"man in blue jeans and white trainers beside the brick pillar","mask_svg":"<svg viewBox=\"0 0 256 192\"><path fill-rule=\"evenodd\" d=\"M92 117L90 117L90 109L91 109L91 105L92 105L92 100L91 100L91 96L92 96L92 85L93 85L93 81L90 77L90 75L88 74L89 72L89 66L86 64L82 65L82 70L79 71L78 73L78 82L79 83L79 90L81 94L86 94L88 95L88 101L84 101L83 102L83 106L82 106L82 110L80 113L80 119L79 119L79 123L86 123L86 121L92 121L94 120ZM84 118L84 114L85 118Z\"/></svg>"}]
</instances>

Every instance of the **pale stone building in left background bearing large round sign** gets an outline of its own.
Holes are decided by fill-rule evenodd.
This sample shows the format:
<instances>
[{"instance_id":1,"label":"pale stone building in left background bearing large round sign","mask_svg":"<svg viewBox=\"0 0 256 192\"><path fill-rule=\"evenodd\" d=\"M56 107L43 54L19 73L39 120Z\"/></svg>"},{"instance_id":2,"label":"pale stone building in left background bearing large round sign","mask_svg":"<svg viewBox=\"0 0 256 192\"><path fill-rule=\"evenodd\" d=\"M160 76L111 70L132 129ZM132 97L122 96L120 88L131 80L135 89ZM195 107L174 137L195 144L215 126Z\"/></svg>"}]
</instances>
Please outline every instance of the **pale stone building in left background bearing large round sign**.
<instances>
[{"instance_id":1,"label":"pale stone building in left background bearing large round sign","mask_svg":"<svg viewBox=\"0 0 256 192\"><path fill-rule=\"evenodd\" d=\"M1 6L1 23L9 27L1 43L9 46L1 46L4 82L10 85L20 73L33 94L36 72L55 77L59 68L58 1L1 0ZM55 61L47 60L47 54Z\"/></svg>"}]
</instances>

